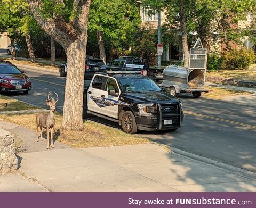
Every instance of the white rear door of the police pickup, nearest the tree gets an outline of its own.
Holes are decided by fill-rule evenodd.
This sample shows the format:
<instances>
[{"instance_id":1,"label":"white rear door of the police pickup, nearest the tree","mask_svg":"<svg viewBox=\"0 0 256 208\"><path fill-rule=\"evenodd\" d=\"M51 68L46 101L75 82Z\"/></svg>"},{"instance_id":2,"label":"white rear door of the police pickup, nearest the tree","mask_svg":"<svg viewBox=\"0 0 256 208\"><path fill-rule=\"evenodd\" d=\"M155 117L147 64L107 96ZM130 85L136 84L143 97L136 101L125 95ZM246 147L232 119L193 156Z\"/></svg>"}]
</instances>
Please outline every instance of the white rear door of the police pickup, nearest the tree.
<instances>
[{"instance_id":1,"label":"white rear door of the police pickup, nearest the tree","mask_svg":"<svg viewBox=\"0 0 256 208\"><path fill-rule=\"evenodd\" d=\"M103 84L106 81L106 76L96 75L91 82L87 92L87 107L89 111L101 113L103 104L101 102L102 95L105 91L102 90Z\"/></svg>"}]
</instances>

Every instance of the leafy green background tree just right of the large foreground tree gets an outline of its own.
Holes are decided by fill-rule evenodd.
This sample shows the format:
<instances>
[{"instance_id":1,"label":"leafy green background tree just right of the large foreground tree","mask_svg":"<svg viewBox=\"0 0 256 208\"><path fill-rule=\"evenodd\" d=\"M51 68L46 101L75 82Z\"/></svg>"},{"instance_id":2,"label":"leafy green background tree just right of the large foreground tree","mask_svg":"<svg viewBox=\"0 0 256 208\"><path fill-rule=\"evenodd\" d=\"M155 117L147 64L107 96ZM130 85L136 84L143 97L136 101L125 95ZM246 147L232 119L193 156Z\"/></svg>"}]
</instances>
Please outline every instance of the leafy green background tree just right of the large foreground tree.
<instances>
[{"instance_id":1,"label":"leafy green background tree just right of the large foreground tree","mask_svg":"<svg viewBox=\"0 0 256 208\"><path fill-rule=\"evenodd\" d=\"M97 33L101 59L106 63L105 43L111 44L110 50L126 43L139 30L140 15L135 0L94 0L89 16L89 30ZM106 40L106 41L104 41ZM122 42L122 43L121 43ZM109 44L108 44L109 45Z\"/></svg>"}]
</instances>

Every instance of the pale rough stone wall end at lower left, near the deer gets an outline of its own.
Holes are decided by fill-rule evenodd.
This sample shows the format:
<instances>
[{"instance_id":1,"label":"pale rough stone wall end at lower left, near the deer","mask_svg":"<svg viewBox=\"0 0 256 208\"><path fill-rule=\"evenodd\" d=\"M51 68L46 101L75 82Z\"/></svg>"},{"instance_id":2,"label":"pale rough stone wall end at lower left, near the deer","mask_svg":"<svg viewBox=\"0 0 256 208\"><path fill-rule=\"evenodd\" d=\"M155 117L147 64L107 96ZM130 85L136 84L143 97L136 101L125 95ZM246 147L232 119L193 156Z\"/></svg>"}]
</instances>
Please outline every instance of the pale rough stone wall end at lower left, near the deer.
<instances>
[{"instance_id":1,"label":"pale rough stone wall end at lower left, near the deer","mask_svg":"<svg viewBox=\"0 0 256 208\"><path fill-rule=\"evenodd\" d=\"M9 168L18 168L14 136L10 132L0 129L0 171Z\"/></svg>"}]
</instances>

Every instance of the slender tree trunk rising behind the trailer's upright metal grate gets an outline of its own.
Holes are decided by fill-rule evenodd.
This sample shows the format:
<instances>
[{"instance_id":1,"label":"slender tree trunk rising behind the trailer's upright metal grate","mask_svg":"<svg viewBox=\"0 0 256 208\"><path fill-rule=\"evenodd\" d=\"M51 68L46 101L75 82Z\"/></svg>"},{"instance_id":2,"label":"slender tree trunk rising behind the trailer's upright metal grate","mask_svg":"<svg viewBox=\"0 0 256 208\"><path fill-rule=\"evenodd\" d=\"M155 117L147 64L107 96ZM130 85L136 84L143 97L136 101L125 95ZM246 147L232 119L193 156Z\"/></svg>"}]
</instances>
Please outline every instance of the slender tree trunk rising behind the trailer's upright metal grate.
<instances>
[{"instance_id":1,"label":"slender tree trunk rising behind the trailer's upright metal grate","mask_svg":"<svg viewBox=\"0 0 256 208\"><path fill-rule=\"evenodd\" d=\"M188 51L188 36L186 28L186 0L180 1L180 28L182 38L182 48L184 53L184 67L188 67L189 51Z\"/></svg>"}]
</instances>

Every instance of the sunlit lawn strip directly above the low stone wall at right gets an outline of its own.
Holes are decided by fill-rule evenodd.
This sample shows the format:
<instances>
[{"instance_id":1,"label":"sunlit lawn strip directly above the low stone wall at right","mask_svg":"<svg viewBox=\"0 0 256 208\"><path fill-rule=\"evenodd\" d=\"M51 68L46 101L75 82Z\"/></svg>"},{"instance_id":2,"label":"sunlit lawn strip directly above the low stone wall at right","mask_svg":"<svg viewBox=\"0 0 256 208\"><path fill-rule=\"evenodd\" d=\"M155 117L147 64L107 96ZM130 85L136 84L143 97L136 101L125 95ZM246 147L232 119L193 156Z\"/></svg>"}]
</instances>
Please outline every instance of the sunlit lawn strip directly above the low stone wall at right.
<instances>
[{"instance_id":1,"label":"sunlit lawn strip directly above the low stone wall at right","mask_svg":"<svg viewBox=\"0 0 256 208\"><path fill-rule=\"evenodd\" d=\"M256 81L256 71L220 70L207 72L206 76L230 78L236 80Z\"/></svg>"}]
</instances>

